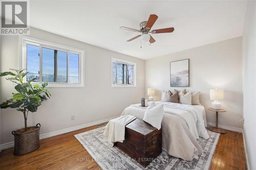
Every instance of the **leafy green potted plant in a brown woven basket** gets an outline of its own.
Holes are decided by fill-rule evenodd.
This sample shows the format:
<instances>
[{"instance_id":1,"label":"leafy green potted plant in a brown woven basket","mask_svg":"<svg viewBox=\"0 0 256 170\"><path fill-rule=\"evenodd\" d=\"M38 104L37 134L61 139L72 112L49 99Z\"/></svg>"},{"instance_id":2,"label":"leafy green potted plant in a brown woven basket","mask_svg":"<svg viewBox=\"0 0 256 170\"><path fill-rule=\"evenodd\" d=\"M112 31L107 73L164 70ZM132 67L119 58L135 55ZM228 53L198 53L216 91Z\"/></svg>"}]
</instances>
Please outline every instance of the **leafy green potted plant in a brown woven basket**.
<instances>
[{"instance_id":1,"label":"leafy green potted plant in a brown woven basket","mask_svg":"<svg viewBox=\"0 0 256 170\"><path fill-rule=\"evenodd\" d=\"M25 76L28 72L25 69L10 69L0 73L0 77L11 76L6 78L16 84L15 93L12 93L12 98L7 99L0 105L1 109L16 108L24 115L25 128L17 131L12 131L14 135L14 155L25 155L27 153L37 150L39 144L39 129L40 124L33 127L27 127L27 118L29 112L36 112L38 106L42 101L50 98L51 93L47 89L48 83L42 83L32 85L31 82L36 78L24 82Z\"/></svg>"}]
</instances>

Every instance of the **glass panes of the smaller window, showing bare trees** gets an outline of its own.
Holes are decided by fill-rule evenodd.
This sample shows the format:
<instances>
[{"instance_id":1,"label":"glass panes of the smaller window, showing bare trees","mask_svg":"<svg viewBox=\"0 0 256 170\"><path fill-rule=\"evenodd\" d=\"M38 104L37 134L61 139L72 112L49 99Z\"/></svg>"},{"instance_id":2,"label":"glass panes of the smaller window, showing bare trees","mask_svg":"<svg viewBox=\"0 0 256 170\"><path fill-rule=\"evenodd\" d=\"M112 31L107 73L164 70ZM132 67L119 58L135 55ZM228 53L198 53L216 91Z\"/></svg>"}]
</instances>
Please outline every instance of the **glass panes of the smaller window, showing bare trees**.
<instances>
[{"instance_id":1,"label":"glass panes of the smaller window, showing bare trees","mask_svg":"<svg viewBox=\"0 0 256 170\"><path fill-rule=\"evenodd\" d=\"M113 61L113 85L134 85L134 65Z\"/></svg>"}]
</instances>

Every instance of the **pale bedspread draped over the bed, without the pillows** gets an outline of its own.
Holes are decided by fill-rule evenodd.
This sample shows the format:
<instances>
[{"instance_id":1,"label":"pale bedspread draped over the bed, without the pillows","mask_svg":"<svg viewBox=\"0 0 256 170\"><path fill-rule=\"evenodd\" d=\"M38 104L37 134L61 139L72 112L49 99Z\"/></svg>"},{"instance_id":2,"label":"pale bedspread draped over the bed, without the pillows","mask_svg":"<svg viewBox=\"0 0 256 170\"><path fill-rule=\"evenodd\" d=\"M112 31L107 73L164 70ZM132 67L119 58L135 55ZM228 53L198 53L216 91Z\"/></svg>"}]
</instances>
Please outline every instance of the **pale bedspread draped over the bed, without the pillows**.
<instances>
[{"instance_id":1,"label":"pale bedspread draped over the bed, without the pillows","mask_svg":"<svg viewBox=\"0 0 256 170\"><path fill-rule=\"evenodd\" d=\"M160 104L161 102L155 102ZM149 103L150 104L150 103ZM162 119L162 147L169 154L184 160L193 160L202 153L197 138L208 139L205 127L205 109L201 105L164 102ZM140 104L125 108L121 115L134 115L143 119L145 108Z\"/></svg>"}]
</instances>

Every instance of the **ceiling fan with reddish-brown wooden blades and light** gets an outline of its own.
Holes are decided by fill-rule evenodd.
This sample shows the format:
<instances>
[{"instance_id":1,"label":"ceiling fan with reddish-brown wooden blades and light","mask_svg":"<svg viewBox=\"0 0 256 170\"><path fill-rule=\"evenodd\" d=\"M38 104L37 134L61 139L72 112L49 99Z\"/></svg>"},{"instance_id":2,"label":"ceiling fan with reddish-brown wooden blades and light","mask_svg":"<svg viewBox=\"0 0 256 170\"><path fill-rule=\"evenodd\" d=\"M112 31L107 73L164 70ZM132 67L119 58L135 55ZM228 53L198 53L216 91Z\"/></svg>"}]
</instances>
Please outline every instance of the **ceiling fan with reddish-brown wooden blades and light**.
<instances>
[{"instance_id":1,"label":"ceiling fan with reddish-brown wooden blades and light","mask_svg":"<svg viewBox=\"0 0 256 170\"><path fill-rule=\"evenodd\" d=\"M136 38L141 37L142 41L149 41L150 43L154 43L156 42L156 40L149 33L151 34L172 33L174 31L173 27L150 31L152 26L156 22L157 18L158 18L157 15L151 14L147 21L140 22L140 30L136 30L128 27L120 27L120 29L142 33L141 35L137 35L136 37L133 37L127 40L127 42L130 42Z\"/></svg>"}]
</instances>

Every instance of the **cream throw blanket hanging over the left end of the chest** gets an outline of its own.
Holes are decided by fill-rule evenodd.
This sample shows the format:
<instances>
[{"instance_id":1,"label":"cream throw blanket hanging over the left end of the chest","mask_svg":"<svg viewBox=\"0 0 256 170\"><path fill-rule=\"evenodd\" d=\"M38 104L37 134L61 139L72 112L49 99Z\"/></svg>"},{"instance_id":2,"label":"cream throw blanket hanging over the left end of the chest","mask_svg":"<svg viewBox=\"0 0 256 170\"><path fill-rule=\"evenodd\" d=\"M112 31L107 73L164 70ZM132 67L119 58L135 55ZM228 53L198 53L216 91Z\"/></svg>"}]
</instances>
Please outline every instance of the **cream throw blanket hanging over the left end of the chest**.
<instances>
[{"instance_id":1,"label":"cream throw blanket hanging over the left end of the chest","mask_svg":"<svg viewBox=\"0 0 256 170\"><path fill-rule=\"evenodd\" d=\"M129 124L134 119L136 119L135 116L124 115L109 121L103 135L108 138L108 142L110 143L111 147L113 147L116 141L123 142L125 125Z\"/></svg>"}]
</instances>

